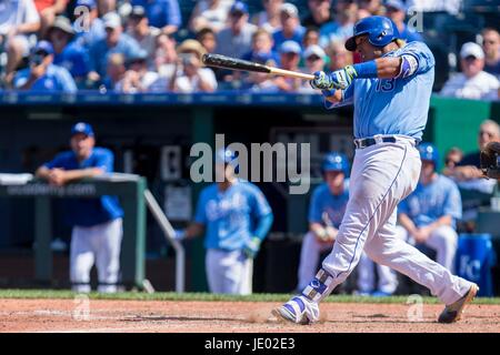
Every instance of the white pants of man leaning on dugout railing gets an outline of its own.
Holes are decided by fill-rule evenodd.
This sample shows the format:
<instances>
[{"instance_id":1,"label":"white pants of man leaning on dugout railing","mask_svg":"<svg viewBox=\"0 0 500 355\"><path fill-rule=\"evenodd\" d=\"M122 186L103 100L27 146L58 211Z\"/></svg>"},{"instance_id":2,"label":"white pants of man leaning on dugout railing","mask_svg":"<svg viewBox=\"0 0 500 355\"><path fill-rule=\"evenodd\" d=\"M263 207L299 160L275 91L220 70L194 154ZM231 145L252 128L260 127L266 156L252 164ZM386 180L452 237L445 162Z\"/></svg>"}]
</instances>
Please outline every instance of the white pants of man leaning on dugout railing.
<instances>
[{"instance_id":1,"label":"white pants of man leaning on dugout railing","mask_svg":"<svg viewBox=\"0 0 500 355\"><path fill-rule=\"evenodd\" d=\"M90 270L96 263L98 292L117 292L120 273L122 219L93 225L74 226L71 234L70 280L72 290L90 292Z\"/></svg>"}]
</instances>

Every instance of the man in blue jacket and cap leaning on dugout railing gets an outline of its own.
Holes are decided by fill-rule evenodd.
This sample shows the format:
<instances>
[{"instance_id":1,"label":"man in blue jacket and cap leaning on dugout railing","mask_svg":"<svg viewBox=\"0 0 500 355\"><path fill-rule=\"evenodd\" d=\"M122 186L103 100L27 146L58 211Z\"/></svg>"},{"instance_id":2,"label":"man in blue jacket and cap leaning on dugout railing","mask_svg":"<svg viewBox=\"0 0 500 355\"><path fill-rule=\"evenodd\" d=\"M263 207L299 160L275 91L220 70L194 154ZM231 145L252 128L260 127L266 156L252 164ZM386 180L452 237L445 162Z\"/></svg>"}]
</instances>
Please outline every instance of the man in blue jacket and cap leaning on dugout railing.
<instances>
[{"instance_id":1,"label":"man in blue jacket and cap leaning on dugout railing","mask_svg":"<svg viewBox=\"0 0 500 355\"><path fill-rule=\"evenodd\" d=\"M62 186L83 178L113 171L113 153L96 148L90 124L79 122L71 129L71 151L58 154L37 170L37 176ZM74 292L90 292L90 270L96 263L99 292L117 291L120 271L122 216L116 196L66 201L66 220L72 226L70 280Z\"/></svg>"}]
</instances>

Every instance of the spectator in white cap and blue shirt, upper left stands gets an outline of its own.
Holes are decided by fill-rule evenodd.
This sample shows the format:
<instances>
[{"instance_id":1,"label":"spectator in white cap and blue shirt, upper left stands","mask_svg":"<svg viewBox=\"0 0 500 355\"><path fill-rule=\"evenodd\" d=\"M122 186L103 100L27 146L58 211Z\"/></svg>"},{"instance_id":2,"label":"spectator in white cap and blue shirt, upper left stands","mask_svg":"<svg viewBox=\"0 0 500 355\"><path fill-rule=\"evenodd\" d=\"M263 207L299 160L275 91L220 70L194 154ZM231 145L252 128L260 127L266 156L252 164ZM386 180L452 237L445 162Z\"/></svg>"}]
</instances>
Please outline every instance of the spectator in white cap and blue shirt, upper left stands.
<instances>
[{"instance_id":1,"label":"spectator in white cap and blue shirt, upper left stands","mask_svg":"<svg viewBox=\"0 0 500 355\"><path fill-rule=\"evenodd\" d=\"M89 80L99 81L106 73L108 57L111 53L123 53L129 60L140 51L137 41L123 33L121 19L116 12L108 12L102 18L106 28L106 38L90 47L90 73Z\"/></svg>"}]
</instances>

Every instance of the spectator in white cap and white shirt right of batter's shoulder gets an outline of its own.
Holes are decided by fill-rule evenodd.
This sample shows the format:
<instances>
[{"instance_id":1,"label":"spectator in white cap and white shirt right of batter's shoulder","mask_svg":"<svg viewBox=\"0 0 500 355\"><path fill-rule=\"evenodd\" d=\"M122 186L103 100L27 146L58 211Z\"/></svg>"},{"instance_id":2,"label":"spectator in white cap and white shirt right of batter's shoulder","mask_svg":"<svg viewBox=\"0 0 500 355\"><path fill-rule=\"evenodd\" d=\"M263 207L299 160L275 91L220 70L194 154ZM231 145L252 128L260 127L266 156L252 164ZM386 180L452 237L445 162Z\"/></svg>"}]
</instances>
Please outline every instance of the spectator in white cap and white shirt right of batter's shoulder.
<instances>
[{"instance_id":1,"label":"spectator in white cap and white shirt right of batter's shoulder","mask_svg":"<svg viewBox=\"0 0 500 355\"><path fill-rule=\"evenodd\" d=\"M460 99L497 100L499 80L484 72L484 52L481 45L467 42L460 50L461 73L451 77L440 94Z\"/></svg>"}]
</instances>

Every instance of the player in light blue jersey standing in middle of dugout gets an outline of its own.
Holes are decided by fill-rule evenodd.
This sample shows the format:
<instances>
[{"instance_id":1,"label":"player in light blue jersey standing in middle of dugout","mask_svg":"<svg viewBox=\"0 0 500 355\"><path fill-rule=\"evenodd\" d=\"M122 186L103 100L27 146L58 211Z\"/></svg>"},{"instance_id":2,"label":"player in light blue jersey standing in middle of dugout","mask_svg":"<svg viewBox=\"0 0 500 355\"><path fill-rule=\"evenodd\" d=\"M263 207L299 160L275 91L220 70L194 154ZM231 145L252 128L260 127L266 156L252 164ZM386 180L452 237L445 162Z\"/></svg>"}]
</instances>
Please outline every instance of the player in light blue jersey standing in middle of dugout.
<instances>
[{"instance_id":1,"label":"player in light blue jersey standing in middle of dugout","mask_svg":"<svg viewBox=\"0 0 500 355\"><path fill-rule=\"evenodd\" d=\"M204 234L210 292L250 294L250 261L272 225L272 211L259 187L237 176L234 152L219 150L214 159L216 175L222 179L201 191L194 221L176 237Z\"/></svg>"}]
</instances>

